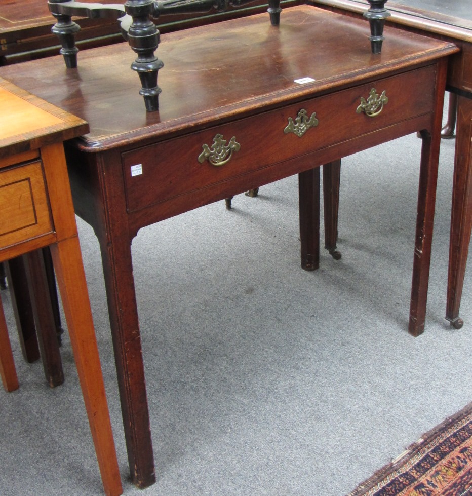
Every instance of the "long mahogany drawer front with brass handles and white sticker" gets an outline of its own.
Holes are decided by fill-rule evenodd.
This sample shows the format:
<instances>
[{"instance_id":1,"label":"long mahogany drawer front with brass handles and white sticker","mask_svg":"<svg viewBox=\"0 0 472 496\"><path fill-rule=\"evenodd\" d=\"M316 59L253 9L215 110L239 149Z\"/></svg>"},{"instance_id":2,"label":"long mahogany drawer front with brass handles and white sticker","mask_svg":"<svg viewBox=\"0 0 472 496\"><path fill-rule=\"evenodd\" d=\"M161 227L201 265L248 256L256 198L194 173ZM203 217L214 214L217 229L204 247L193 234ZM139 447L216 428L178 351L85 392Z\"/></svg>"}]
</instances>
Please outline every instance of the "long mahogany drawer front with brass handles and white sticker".
<instances>
[{"instance_id":1,"label":"long mahogany drawer front with brass handles and white sticker","mask_svg":"<svg viewBox=\"0 0 472 496\"><path fill-rule=\"evenodd\" d=\"M435 66L428 66L124 152L128 210L428 114L434 87ZM371 91L373 117L361 106Z\"/></svg>"}]
</instances>

